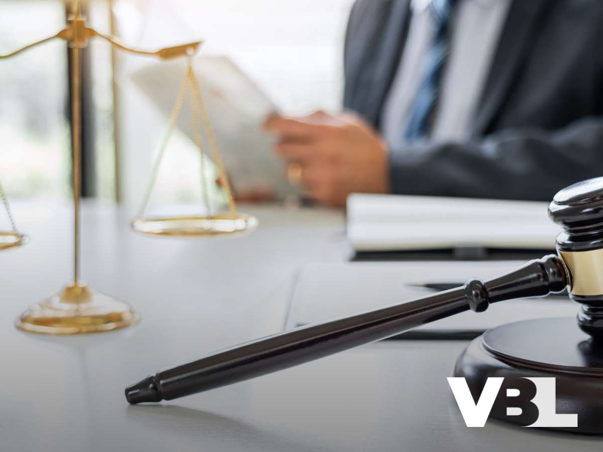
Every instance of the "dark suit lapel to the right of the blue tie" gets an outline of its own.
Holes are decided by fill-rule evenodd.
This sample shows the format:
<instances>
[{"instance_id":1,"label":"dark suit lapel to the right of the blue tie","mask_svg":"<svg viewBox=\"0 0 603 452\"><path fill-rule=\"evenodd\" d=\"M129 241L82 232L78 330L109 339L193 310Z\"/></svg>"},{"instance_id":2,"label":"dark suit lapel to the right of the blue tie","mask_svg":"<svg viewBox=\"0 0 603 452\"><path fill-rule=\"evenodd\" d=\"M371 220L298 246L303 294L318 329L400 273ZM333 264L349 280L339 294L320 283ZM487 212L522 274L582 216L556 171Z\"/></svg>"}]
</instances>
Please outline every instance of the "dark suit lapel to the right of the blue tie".
<instances>
[{"instance_id":1,"label":"dark suit lapel to the right of the blue tie","mask_svg":"<svg viewBox=\"0 0 603 452\"><path fill-rule=\"evenodd\" d=\"M473 136L484 134L503 107L533 43L536 25L550 3L550 0L513 0L475 116Z\"/></svg>"}]
</instances>

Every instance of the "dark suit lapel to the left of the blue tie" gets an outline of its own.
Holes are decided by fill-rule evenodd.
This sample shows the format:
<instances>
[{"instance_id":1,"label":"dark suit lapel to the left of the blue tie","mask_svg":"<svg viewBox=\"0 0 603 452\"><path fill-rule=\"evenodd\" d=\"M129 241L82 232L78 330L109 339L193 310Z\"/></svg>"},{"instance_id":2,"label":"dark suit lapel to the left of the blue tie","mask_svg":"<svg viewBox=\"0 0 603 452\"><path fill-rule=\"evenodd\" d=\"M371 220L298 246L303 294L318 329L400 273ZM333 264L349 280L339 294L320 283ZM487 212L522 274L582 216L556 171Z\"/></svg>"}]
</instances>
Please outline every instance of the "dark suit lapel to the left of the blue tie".
<instances>
[{"instance_id":1,"label":"dark suit lapel to the left of the blue tie","mask_svg":"<svg viewBox=\"0 0 603 452\"><path fill-rule=\"evenodd\" d=\"M390 0L382 22L374 24L374 45L365 49L355 104L373 125L379 122L380 110L400 63L408 28L409 3L410 0Z\"/></svg>"}]
</instances>

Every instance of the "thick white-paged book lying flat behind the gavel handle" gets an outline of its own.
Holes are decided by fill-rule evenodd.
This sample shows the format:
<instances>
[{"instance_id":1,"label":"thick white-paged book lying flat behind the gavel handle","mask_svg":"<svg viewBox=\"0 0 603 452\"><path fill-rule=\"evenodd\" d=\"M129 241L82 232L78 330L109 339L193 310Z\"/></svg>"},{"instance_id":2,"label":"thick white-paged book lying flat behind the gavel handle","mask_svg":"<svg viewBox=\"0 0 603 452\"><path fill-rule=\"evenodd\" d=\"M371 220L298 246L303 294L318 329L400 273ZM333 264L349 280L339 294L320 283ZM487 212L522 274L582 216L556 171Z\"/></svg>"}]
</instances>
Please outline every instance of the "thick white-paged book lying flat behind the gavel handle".
<instances>
[{"instance_id":1,"label":"thick white-paged book lying flat behind the gavel handle","mask_svg":"<svg viewBox=\"0 0 603 452\"><path fill-rule=\"evenodd\" d=\"M437 196L352 194L347 237L356 251L478 246L555 249L561 228L548 203Z\"/></svg>"}]
</instances>

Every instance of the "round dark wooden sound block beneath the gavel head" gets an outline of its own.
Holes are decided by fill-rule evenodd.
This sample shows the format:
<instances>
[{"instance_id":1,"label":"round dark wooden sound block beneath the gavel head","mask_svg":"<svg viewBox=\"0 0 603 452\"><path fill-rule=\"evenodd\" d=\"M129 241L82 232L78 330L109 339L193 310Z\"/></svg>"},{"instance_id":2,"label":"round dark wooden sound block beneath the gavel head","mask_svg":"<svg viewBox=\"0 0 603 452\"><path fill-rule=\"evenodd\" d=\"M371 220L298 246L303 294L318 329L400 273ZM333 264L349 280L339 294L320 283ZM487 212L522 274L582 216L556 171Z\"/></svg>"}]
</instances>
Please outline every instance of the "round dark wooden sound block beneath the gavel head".
<instances>
[{"instance_id":1,"label":"round dark wooden sound block beneath the gavel head","mask_svg":"<svg viewBox=\"0 0 603 452\"><path fill-rule=\"evenodd\" d=\"M534 397L534 392L522 391L531 382L521 377L555 377L556 412L577 413L578 427L548 428L603 433L603 344L584 333L575 318L528 320L488 330L458 357L453 373L466 378L475 401L488 377L505 377L490 417L519 425L532 424L538 416L528 409L507 415L507 407ZM507 397L507 388L519 389L519 396Z\"/></svg>"}]
</instances>

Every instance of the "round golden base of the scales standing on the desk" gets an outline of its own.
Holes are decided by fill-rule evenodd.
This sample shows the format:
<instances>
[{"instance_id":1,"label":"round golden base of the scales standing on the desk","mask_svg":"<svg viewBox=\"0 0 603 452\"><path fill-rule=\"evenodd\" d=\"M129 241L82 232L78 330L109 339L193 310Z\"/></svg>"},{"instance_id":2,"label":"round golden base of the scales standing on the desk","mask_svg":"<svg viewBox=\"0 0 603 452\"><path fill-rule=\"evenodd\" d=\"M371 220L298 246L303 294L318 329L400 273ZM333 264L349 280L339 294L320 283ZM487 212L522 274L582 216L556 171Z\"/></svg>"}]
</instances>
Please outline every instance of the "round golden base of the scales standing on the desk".
<instances>
[{"instance_id":1,"label":"round golden base of the scales standing on the desk","mask_svg":"<svg viewBox=\"0 0 603 452\"><path fill-rule=\"evenodd\" d=\"M139 316L127 304L79 281L54 297L30 306L15 322L19 330L42 334L80 334L128 327Z\"/></svg>"}]
</instances>

